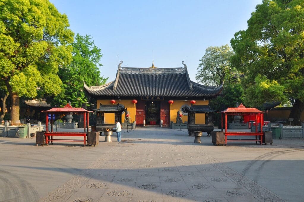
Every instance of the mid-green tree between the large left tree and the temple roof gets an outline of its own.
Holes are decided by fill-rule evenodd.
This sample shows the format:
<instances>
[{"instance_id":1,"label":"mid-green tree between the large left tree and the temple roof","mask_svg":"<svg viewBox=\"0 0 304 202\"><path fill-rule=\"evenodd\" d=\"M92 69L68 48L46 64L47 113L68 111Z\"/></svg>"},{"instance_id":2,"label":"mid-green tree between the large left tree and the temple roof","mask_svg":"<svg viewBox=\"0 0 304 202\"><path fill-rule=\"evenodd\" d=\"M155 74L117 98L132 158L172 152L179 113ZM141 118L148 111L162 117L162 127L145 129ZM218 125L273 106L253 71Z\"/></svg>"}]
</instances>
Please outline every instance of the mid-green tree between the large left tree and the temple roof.
<instances>
[{"instance_id":1,"label":"mid-green tree between the large left tree and the temple roof","mask_svg":"<svg viewBox=\"0 0 304 202\"><path fill-rule=\"evenodd\" d=\"M73 58L70 65L59 71L64 90L60 96L54 97L53 105L64 106L71 102L73 107L81 107L88 102L83 82L87 85L102 85L108 78L100 76L99 66L102 57L101 49L95 46L88 35L76 35L73 47Z\"/></svg>"}]
</instances>

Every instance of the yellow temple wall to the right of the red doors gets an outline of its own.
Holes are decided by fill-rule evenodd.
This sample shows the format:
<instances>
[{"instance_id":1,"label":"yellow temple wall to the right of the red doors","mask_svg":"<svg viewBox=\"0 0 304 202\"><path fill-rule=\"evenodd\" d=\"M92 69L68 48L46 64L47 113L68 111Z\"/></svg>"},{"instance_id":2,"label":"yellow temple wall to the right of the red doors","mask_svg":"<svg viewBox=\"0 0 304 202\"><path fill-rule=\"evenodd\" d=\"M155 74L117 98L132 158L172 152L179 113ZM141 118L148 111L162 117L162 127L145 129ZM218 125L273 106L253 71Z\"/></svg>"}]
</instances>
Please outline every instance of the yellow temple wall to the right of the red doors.
<instances>
[{"instance_id":1,"label":"yellow temple wall to the right of the red doors","mask_svg":"<svg viewBox=\"0 0 304 202\"><path fill-rule=\"evenodd\" d=\"M191 106L190 100L173 100L174 103L170 105L170 121L176 123L177 112L181 110L181 106L189 105ZM208 105L209 100L195 100L196 103L194 105ZM188 116L182 116L183 123L188 121ZM195 124L205 124L205 114L195 114Z\"/></svg>"}]
</instances>

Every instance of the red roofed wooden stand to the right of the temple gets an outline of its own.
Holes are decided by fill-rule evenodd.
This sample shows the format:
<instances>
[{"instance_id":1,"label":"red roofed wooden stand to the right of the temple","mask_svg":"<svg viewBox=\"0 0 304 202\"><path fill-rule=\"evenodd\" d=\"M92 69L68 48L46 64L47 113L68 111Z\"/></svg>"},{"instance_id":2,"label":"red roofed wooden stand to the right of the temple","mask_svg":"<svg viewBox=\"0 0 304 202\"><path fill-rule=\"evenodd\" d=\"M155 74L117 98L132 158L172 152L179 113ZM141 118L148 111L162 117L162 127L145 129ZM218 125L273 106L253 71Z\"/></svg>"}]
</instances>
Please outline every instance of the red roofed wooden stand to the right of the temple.
<instances>
[{"instance_id":1,"label":"red roofed wooden stand to the right of the temple","mask_svg":"<svg viewBox=\"0 0 304 202\"><path fill-rule=\"evenodd\" d=\"M228 141L255 141L260 142L262 144L263 139L263 124L261 124L261 132L258 132L257 127L255 132L236 132L236 131L227 131L227 116L244 116L244 115L255 115L255 122L257 123L258 117L260 117L261 123L264 123L263 116L264 112L256 109L256 108L246 108L243 104L240 104L238 107L228 107L226 110L221 111L222 113L222 132L223 132L223 121L225 119L225 145ZM230 139L228 140L228 136L255 136L254 139ZM259 137L260 136L260 137ZM258 138L259 137L259 138Z\"/></svg>"}]
</instances>

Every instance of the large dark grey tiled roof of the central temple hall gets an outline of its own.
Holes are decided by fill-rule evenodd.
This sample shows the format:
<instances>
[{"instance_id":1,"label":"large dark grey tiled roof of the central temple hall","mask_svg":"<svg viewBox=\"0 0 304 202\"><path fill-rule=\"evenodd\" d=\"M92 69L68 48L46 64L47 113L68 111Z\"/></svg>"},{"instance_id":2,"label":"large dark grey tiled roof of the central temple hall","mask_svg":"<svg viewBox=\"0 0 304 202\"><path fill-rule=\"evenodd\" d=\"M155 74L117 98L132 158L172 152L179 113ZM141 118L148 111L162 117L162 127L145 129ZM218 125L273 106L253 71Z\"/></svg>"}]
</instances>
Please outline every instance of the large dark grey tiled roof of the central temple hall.
<instances>
[{"instance_id":1,"label":"large dark grey tiled roof of the central temple hall","mask_svg":"<svg viewBox=\"0 0 304 202\"><path fill-rule=\"evenodd\" d=\"M187 68L119 67L115 81L85 90L92 96L188 96L212 98L222 91L190 81Z\"/></svg>"}]
</instances>

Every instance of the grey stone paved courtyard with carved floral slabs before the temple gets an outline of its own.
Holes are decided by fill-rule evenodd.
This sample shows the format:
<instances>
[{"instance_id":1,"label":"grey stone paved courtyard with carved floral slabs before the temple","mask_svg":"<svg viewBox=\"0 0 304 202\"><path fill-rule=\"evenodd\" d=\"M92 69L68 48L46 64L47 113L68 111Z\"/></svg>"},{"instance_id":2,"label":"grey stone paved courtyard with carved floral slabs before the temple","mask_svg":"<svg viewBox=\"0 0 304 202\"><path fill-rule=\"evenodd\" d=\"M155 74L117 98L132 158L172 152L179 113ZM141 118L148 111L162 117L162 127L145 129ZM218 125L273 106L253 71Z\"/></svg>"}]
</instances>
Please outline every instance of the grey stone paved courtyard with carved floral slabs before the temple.
<instances>
[{"instance_id":1,"label":"grey stone paved courtyard with carved floral slabs before the temple","mask_svg":"<svg viewBox=\"0 0 304 202\"><path fill-rule=\"evenodd\" d=\"M0 137L0 201L303 201L304 141L272 145L146 127L98 146Z\"/></svg>"}]
</instances>

